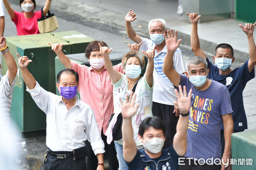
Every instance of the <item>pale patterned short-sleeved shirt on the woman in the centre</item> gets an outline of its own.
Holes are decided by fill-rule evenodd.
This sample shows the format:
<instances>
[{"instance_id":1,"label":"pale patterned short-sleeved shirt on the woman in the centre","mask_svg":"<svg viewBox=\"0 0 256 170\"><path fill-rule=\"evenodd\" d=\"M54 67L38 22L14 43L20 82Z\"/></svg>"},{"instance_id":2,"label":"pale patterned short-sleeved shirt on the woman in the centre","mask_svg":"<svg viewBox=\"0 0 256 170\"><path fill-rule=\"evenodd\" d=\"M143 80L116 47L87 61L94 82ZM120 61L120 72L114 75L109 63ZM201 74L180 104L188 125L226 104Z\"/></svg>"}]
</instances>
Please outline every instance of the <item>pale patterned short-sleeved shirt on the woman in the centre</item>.
<instances>
[{"instance_id":1,"label":"pale patterned short-sleeved shirt on the woman in the centre","mask_svg":"<svg viewBox=\"0 0 256 170\"><path fill-rule=\"evenodd\" d=\"M127 76L121 74L121 79L118 82L113 84L113 103L114 103L114 113L121 112L121 103L119 101L119 97L122 101L125 101L126 95L130 94L131 91L128 91L128 80ZM132 127L134 131L134 141L138 145L142 145L140 140L138 139L138 131L140 123L146 118L152 117L152 92L153 87L151 88L148 85L145 77L141 77L138 80L137 87L135 89L135 94L137 94L135 103L140 103L140 106L136 112L136 114L131 118ZM122 139L119 141L122 144Z\"/></svg>"}]
</instances>

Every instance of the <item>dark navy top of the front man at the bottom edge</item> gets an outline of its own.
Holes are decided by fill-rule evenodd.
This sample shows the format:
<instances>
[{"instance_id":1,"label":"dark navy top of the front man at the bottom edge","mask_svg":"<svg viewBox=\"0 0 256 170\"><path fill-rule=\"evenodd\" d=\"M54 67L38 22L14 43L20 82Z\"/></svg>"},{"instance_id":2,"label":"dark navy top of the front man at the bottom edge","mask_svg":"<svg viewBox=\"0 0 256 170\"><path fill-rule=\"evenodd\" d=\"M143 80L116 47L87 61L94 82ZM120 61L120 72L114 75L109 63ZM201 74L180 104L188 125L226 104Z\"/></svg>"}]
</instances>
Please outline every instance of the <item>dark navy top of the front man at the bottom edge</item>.
<instances>
[{"instance_id":1,"label":"dark navy top of the front man at the bottom edge","mask_svg":"<svg viewBox=\"0 0 256 170\"><path fill-rule=\"evenodd\" d=\"M131 162L127 162L129 170L178 170L178 155L173 146L162 150L159 158L151 159L145 150L137 154Z\"/></svg>"}]
</instances>

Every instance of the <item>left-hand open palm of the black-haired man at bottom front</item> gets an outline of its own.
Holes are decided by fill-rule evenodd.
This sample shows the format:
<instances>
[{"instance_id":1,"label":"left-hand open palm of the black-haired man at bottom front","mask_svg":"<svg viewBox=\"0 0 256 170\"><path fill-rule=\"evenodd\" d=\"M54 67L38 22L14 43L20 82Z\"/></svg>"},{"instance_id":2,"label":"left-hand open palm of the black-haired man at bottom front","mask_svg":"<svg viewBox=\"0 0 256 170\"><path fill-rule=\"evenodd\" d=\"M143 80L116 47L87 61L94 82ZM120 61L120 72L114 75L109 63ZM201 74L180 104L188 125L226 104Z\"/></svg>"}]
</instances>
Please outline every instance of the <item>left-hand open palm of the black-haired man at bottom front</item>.
<instances>
[{"instance_id":1,"label":"left-hand open palm of the black-haired man at bottom front","mask_svg":"<svg viewBox=\"0 0 256 170\"><path fill-rule=\"evenodd\" d=\"M136 103L134 105L135 99L136 99L136 94L134 94L134 99L132 100L132 96L133 96L133 91L131 92L130 97L128 97L128 94L126 95L126 100L125 102L122 102L122 99L119 98L120 103L122 105L122 117L123 118L131 118L132 116L135 115L135 113L137 112L140 103Z\"/></svg>"}]
</instances>

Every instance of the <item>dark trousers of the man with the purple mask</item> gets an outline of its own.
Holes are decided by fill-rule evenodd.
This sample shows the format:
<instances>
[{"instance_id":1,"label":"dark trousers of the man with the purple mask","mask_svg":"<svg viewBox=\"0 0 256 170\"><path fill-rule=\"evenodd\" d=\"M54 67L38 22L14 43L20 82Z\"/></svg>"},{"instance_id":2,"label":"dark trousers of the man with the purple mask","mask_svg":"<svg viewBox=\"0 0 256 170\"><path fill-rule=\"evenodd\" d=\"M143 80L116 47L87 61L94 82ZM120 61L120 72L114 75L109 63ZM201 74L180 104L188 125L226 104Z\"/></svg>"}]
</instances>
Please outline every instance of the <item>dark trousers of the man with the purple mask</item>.
<instances>
[{"instance_id":1,"label":"dark trousers of the man with the purple mask","mask_svg":"<svg viewBox=\"0 0 256 170\"><path fill-rule=\"evenodd\" d=\"M44 170L87 170L87 168L85 158L74 161L73 157L58 159L48 154Z\"/></svg>"}]
</instances>

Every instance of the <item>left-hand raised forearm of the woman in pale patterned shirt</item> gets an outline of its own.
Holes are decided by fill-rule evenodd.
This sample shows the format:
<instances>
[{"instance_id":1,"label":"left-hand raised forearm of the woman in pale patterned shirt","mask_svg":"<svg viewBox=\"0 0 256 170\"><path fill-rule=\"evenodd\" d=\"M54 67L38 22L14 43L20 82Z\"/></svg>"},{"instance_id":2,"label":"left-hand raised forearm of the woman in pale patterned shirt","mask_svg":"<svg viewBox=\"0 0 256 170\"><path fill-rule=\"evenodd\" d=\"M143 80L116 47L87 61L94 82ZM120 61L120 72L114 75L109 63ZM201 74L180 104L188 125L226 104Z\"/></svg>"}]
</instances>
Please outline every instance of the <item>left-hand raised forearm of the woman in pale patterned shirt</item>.
<instances>
[{"instance_id":1,"label":"left-hand raised forearm of the woman in pale patterned shirt","mask_svg":"<svg viewBox=\"0 0 256 170\"><path fill-rule=\"evenodd\" d=\"M105 68L107 69L113 84L115 84L116 82L118 82L119 79L121 79L121 73L118 72L115 68L113 68L112 62L109 59L109 54L111 53L113 48L108 49L108 47L102 47L100 43L99 48L100 54L102 54L104 57Z\"/></svg>"}]
</instances>

